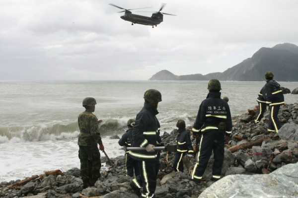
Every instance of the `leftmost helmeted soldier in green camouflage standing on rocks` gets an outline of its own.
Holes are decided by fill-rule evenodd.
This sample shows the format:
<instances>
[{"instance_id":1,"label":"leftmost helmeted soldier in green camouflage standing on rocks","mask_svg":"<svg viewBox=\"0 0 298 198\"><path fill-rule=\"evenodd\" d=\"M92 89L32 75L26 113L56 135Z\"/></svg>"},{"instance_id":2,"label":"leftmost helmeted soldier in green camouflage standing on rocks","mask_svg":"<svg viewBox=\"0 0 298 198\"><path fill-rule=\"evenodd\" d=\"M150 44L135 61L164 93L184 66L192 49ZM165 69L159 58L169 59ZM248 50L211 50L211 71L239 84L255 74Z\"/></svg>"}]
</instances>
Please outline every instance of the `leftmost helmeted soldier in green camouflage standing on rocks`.
<instances>
[{"instance_id":1,"label":"leftmost helmeted soldier in green camouflage standing on rocks","mask_svg":"<svg viewBox=\"0 0 298 198\"><path fill-rule=\"evenodd\" d=\"M77 144L79 147L78 157L80 160L80 176L83 180L83 188L94 186L95 182L100 178L100 153L99 149L104 150L101 141L98 125L102 120L97 120L92 113L95 111L96 100L91 97L83 99L83 107L85 111L78 115L79 135Z\"/></svg>"}]
</instances>

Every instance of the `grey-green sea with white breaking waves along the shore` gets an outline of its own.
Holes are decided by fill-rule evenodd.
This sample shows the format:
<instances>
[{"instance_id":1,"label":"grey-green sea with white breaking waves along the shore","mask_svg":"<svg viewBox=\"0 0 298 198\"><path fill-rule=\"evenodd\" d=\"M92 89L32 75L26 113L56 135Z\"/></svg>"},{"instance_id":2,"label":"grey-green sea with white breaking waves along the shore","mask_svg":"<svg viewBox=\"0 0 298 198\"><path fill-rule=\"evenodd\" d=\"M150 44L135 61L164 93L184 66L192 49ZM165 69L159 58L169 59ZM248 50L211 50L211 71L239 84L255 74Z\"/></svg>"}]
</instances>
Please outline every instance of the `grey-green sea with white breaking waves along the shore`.
<instances>
[{"instance_id":1,"label":"grey-green sea with white breaking waves along the shore","mask_svg":"<svg viewBox=\"0 0 298 198\"><path fill-rule=\"evenodd\" d=\"M229 98L232 116L257 105L264 82L222 81L222 97ZM279 82L291 91L298 82ZM45 171L79 168L77 116L82 100L94 97L94 114L102 119L100 132L110 158L124 155L113 135L127 130L144 105L148 89L161 92L156 116L161 133L171 132L179 119L194 123L208 94L208 81L0 81L0 182L25 179ZM285 95L288 104L298 95ZM101 152L101 156L104 154Z\"/></svg>"}]
</instances>

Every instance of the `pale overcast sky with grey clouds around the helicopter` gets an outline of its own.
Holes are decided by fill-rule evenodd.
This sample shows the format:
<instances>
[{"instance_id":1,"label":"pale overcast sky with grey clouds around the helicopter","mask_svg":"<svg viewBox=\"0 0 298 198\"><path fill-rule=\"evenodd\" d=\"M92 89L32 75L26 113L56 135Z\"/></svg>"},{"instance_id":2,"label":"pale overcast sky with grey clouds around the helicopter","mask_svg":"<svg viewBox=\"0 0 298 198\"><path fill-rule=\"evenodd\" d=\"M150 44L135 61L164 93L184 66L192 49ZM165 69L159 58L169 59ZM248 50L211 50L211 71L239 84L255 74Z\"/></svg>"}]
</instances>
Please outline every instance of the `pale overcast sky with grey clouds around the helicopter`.
<instances>
[{"instance_id":1,"label":"pale overcast sky with grey clouds around the helicopter","mask_svg":"<svg viewBox=\"0 0 298 198\"><path fill-rule=\"evenodd\" d=\"M131 25L121 9L163 22ZM151 16L148 12L133 13ZM261 47L298 45L298 0L0 0L0 80L147 80L223 72Z\"/></svg>"}]
</instances>

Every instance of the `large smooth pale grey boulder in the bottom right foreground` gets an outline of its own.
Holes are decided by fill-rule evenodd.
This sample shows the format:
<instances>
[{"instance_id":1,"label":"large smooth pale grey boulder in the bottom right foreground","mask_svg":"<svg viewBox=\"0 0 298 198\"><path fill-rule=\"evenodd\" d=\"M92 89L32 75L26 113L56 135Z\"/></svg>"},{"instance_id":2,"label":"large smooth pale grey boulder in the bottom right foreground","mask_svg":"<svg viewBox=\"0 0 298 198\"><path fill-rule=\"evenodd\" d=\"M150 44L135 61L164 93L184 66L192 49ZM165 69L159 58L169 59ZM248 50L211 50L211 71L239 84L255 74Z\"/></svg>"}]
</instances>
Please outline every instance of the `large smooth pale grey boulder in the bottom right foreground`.
<instances>
[{"instance_id":1,"label":"large smooth pale grey boulder in the bottom right foreground","mask_svg":"<svg viewBox=\"0 0 298 198\"><path fill-rule=\"evenodd\" d=\"M208 187L199 198L297 198L298 163L266 175L228 175Z\"/></svg>"}]
</instances>

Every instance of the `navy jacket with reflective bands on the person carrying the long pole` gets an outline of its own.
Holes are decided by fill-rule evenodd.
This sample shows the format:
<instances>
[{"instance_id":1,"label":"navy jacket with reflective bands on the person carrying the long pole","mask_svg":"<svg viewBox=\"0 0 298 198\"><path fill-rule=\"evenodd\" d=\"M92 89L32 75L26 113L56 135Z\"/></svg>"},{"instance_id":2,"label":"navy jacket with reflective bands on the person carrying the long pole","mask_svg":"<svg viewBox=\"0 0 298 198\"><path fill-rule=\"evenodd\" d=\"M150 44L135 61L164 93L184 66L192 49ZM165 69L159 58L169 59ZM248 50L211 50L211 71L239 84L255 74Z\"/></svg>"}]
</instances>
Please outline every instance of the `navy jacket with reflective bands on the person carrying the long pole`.
<instances>
[{"instance_id":1,"label":"navy jacket with reflective bands on the person carrying the long pole","mask_svg":"<svg viewBox=\"0 0 298 198\"><path fill-rule=\"evenodd\" d=\"M158 140L157 131L159 123L155 115L158 111L148 103L144 103L143 109L137 114L136 123L133 128L132 147L146 147L148 144L156 146ZM153 161L157 157L157 152L147 152L146 150L133 150L129 154L137 160Z\"/></svg>"}]
</instances>

